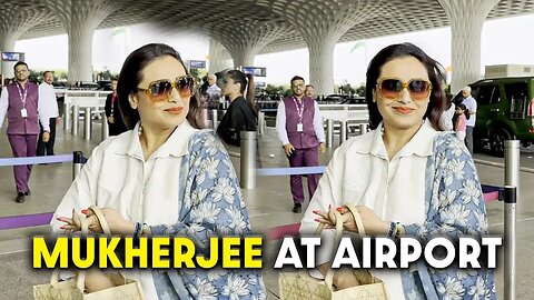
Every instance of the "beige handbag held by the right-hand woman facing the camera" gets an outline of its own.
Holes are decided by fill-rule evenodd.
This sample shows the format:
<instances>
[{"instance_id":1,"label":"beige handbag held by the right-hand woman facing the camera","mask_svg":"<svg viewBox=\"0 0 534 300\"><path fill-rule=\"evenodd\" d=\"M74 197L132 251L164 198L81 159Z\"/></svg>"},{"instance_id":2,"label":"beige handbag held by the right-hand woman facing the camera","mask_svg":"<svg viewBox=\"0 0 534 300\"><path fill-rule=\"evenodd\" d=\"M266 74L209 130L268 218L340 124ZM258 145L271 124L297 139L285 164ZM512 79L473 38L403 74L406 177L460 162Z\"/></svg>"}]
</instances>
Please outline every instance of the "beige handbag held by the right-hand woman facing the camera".
<instances>
[{"instance_id":1,"label":"beige handbag held by the right-hand woman facing the camera","mask_svg":"<svg viewBox=\"0 0 534 300\"><path fill-rule=\"evenodd\" d=\"M364 224L358 211L354 206L346 206L354 216L358 227L358 234L365 236ZM339 243L343 233L343 222L340 213L334 210L336 216L336 242ZM339 220L339 221L338 221ZM320 234L325 224L319 224L315 234ZM354 270L354 274L358 278L362 286L356 286L339 291L334 290L333 279L334 270L328 270L325 280L318 280L308 274L306 270L298 272L281 272L278 277L280 299L281 300L387 300L387 291L384 282L373 277L366 270Z\"/></svg>"}]
</instances>

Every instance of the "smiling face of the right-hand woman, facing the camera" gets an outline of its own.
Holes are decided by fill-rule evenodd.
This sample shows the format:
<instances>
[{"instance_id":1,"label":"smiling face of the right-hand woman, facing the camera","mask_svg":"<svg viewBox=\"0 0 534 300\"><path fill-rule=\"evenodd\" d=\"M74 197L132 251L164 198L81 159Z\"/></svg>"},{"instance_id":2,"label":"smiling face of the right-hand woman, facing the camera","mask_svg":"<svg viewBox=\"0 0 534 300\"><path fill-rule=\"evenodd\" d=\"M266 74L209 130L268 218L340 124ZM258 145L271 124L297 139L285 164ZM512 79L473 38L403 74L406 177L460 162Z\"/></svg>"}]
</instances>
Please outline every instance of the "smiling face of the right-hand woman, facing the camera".
<instances>
[{"instance_id":1,"label":"smiling face of the right-hand woman, facing the camera","mask_svg":"<svg viewBox=\"0 0 534 300\"><path fill-rule=\"evenodd\" d=\"M414 57L396 58L386 62L382 66L377 82L384 79L398 79L403 83L414 79L429 82L425 66ZM403 88L395 98L385 98L383 93L378 87L375 88L374 96L385 127L412 129L421 126L431 92L424 99L413 99L407 88Z\"/></svg>"}]
</instances>

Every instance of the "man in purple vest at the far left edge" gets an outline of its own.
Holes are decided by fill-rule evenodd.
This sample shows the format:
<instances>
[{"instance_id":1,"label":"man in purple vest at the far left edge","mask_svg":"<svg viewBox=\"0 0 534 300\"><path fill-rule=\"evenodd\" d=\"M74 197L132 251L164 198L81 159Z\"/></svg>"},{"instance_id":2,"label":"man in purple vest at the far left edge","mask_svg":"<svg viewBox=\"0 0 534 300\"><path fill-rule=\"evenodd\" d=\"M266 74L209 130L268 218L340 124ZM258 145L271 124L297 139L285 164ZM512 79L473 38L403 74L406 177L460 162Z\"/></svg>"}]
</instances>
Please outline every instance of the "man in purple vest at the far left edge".
<instances>
[{"instance_id":1,"label":"man in purple vest at the far left edge","mask_svg":"<svg viewBox=\"0 0 534 300\"><path fill-rule=\"evenodd\" d=\"M28 64L19 61L14 64L16 81L7 86L0 96L0 128L3 119L8 114L8 139L13 151L13 157L34 157L37 150L37 139L39 137L41 121L43 133L42 141L50 139L49 116L44 116L39 104L39 87L28 81ZM31 174L31 166L13 167L14 182L17 186L18 203L26 200L30 194L28 181Z\"/></svg>"}]
</instances>

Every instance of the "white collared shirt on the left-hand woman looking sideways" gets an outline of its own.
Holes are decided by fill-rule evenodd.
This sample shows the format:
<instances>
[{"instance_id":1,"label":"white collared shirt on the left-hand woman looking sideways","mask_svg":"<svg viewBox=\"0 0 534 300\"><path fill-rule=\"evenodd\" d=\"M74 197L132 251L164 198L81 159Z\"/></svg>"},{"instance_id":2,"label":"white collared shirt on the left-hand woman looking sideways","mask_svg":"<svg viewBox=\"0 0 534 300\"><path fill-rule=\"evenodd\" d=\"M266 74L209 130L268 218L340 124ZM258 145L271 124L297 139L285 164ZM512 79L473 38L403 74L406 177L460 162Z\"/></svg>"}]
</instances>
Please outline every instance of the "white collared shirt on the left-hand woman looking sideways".
<instances>
[{"instance_id":1,"label":"white collared shirt on the left-hand woman looking sideways","mask_svg":"<svg viewBox=\"0 0 534 300\"><path fill-rule=\"evenodd\" d=\"M138 129L139 124L95 148L56 210L50 223L55 232L61 232L62 226L57 217L70 217L72 208L79 212L91 204L117 209L132 222L178 222L181 160L188 153L189 138L198 129L185 120L147 161ZM147 299L158 298L150 270L122 273L140 281Z\"/></svg>"}]
</instances>

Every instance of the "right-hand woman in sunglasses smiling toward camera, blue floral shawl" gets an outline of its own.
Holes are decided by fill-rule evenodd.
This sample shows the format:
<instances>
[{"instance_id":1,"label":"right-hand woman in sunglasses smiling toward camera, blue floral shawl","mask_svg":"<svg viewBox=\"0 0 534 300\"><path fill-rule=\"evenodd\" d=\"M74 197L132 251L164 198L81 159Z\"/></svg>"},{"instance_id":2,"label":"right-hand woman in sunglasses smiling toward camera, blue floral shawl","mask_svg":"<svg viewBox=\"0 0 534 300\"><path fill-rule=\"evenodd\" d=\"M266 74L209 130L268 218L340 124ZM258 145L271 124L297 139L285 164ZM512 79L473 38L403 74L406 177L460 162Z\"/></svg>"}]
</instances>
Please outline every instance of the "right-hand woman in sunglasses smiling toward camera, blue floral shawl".
<instances>
[{"instance_id":1,"label":"right-hand woman in sunglasses smiling toward camera, blue floral shawl","mask_svg":"<svg viewBox=\"0 0 534 300\"><path fill-rule=\"evenodd\" d=\"M370 132L355 137L334 153L301 221L300 233L319 223L334 226L342 214L344 230L357 232L354 204L370 236L415 237L439 233L451 238L487 234L483 193L473 159L453 132L438 126L445 102L443 68L411 43L379 51L367 69L366 99ZM334 233L323 231L320 264L329 269ZM392 299L495 299L493 272L373 270ZM357 286L347 271L334 277L337 289ZM423 289L425 287L425 289ZM426 298L425 298L426 293Z\"/></svg>"}]
</instances>

